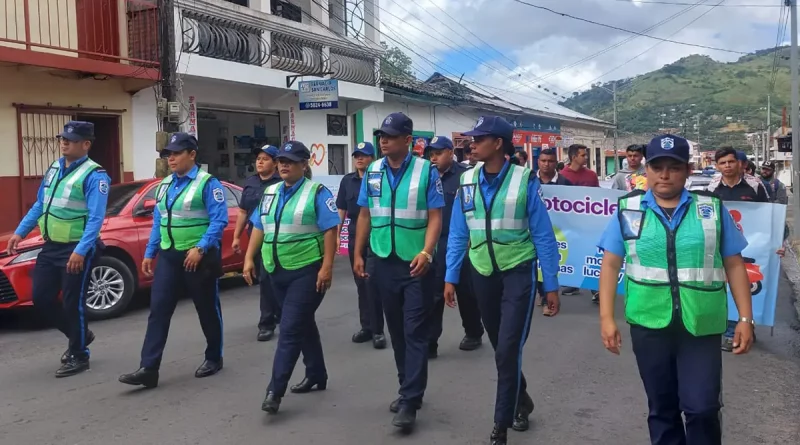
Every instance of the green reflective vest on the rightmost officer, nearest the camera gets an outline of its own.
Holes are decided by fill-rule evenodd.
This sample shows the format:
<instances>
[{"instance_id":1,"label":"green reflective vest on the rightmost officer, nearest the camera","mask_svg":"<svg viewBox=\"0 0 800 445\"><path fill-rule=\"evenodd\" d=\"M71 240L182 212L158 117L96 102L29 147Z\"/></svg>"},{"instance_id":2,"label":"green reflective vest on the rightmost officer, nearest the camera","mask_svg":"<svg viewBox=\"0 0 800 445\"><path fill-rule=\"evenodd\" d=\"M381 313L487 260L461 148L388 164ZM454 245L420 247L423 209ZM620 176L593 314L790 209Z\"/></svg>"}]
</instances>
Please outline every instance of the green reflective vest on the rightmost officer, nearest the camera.
<instances>
[{"instance_id":1,"label":"green reflective vest on the rightmost officer, nearest the camera","mask_svg":"<svg viewBox=\"0 0 800 445\"><path fill-rule=\"evenodd\" d=\"M721 334L728 319L725 269L720 254L722 205L691 194L676 231L647 208L639 191L619 200L625 239L625 317L631 324L662 329L680 308L695 336Z\"/></svg>"}]
</instances>

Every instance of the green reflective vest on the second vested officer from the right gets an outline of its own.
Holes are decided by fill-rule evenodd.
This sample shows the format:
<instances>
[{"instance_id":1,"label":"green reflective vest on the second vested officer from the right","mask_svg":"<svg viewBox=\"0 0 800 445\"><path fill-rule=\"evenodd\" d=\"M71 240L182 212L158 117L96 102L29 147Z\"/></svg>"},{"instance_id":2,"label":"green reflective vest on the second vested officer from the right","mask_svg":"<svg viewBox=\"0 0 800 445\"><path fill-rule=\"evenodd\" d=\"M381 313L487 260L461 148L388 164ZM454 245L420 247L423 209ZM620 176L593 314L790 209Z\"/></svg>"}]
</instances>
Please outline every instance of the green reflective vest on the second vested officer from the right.
<instances>
[{"instance_id":1,"label":"green reflective vest on the second vested officer from the right","mask_svg":"<svg viewBox=\"0 0 800 445\"><path fill-rule=\"evenodd\" d=\"M461 175L461 200L469 228L469 259L483 276L531 261L536 248L528 228L528 181L531 171L509 165L508 171L486 208L479 179L483 166ZM470 202L471 201L471 202Z\"/></svg>"}]
</instances>

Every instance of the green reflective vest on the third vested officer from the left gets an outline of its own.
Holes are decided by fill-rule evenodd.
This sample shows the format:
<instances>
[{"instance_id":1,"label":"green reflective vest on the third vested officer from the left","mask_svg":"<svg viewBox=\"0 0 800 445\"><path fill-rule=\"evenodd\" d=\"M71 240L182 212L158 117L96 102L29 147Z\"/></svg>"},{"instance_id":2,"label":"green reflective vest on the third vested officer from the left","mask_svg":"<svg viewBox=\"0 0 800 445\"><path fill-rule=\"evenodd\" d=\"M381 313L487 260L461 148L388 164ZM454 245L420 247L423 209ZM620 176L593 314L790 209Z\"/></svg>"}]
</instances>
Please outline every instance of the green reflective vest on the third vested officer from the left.
<instances>
[{"instance_id":1,"label":"green reflective vest on the third vested officer from the left","mask_svg":"<svg viewBox=\"0 0 800 445\"><path fill-rule=\"evenodd\" d=\"M286 270L297 270L322 259L325 251L325 234L317 226L316 197L319 183L309 179L284 202L278 213L278 193L283 182L272 184L264 190L259 212L264 226L264 243L261 260L267 272L275 271L277 263Z\"/></svg>"}]
</instances>

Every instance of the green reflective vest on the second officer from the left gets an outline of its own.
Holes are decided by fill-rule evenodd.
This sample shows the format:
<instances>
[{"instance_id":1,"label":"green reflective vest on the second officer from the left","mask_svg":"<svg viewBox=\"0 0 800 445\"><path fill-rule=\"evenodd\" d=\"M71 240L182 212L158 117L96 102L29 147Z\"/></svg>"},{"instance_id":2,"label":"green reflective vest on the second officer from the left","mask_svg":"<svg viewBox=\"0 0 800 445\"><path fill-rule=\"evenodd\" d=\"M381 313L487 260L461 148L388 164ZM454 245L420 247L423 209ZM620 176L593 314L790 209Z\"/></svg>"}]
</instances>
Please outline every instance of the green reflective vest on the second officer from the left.
<instances>
[{"instance_id":1,"label":"green reflective vest on the second officer from the left","mask_svg":"<svg viewBox=\"0 0 800 445\"><path fill-rule=\"evenodd\" d=\"M164 178L156 190L161 214L161 250L174 248L184 251L196 247L208 230L210 219L203 201L203 190L211 175L198 169L197 176L175 197L172 206L168 206L167 191L174 176Z\"/></svg>"}]
</instances>

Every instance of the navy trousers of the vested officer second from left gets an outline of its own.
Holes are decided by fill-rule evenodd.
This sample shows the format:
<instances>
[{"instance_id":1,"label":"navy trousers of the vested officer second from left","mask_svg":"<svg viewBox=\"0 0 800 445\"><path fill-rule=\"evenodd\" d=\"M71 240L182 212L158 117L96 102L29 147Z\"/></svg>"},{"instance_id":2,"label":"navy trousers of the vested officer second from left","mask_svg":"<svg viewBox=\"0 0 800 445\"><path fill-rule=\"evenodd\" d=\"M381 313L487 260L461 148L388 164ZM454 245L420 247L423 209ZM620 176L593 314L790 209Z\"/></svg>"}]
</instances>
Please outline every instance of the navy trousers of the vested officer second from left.
<instances>
[{"instance_id":1,"label":"navy trousers of the vested officer second from left","mask_svg":"<svg viewBox=\"0 0 800 445\"><path fill-rule=\"evenodd\" d=\"M219 250L209 250L197 270L187 272L183 267L186 252L162 250L158 254L150 295L150 316L142 345L142 368L158 369L161 366L172 314L178 300L187 295L194 301L206 337L206 360L219 361L222 358L219 255Z\"/></svg>"}]
</instances>

